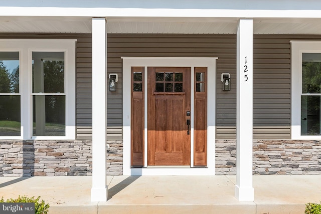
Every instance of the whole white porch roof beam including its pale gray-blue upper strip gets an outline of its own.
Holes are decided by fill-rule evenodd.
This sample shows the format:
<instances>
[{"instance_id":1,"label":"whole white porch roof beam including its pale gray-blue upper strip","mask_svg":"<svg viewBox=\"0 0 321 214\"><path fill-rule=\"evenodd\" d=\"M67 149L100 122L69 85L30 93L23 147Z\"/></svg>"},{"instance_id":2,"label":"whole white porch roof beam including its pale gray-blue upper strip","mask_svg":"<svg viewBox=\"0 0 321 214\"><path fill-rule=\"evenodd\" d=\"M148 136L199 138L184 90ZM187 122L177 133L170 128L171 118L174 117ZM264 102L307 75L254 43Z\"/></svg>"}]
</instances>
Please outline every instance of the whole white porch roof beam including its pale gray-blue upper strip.
<instances>
[{"instance_id":1,"label":"whole white porch roof beam including its pale gray-blue upper strip","mask_svg":"<svg viewBox=\"0 0 321 214\"><path fill-rule=\"evenodd\" d=\"M2 16L43 17L251 17L320 18L320 1L12 1L2 0Z\"/></svg>"}]
</instances>

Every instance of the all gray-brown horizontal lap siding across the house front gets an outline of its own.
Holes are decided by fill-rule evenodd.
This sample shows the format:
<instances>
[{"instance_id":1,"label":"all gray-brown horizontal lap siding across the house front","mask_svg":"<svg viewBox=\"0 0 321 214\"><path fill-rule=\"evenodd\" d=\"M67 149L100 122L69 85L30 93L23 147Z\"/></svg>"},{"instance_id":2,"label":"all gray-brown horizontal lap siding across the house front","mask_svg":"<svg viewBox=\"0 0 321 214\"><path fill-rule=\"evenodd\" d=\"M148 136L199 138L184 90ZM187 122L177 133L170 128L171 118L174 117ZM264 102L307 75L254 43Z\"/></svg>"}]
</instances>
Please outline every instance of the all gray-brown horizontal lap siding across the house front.
<instances>
[{"instance_id":1,"label":"all gray-brown horizontal lap siding across the house front","mask_svg":"<svg viewBox=\"0 0 321 214\"><path fill-rule=\"evenodd\" d=\"M0 34L2 39L77 39L77 139L92 137L92 64L89 34ZM254 35L253 137L290 139L290 40L309 35ZM122 139L122 56L218 57L216 137L236 138L236 35L109 34L107 72L118 74L116 92L107 93L107 138ZM166 66L166 65L165 65ZM222 91L221 73L231 74ZM211 109L209 109L210 111Z\"/></svg>"}]
</instances>

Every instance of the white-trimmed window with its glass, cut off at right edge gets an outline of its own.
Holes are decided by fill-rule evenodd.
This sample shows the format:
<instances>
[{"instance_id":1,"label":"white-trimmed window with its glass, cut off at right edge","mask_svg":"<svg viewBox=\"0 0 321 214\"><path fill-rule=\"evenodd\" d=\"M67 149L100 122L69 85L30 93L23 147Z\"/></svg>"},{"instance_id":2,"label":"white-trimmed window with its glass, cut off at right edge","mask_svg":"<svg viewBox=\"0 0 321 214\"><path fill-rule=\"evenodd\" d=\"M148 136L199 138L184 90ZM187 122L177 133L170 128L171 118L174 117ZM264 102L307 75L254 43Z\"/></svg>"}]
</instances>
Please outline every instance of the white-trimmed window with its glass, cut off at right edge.
<instances>
[{"instance_id":1,"label":"white-trimmed window with its glass, cut off at right edge","mask_svg":"<svg viewBox=\"0 0 321 214\"><path fill-rule=\"evenodd\" d=\"M321 41L291 41L292 138L321 136Z\"/></svg>"}]
</instances>

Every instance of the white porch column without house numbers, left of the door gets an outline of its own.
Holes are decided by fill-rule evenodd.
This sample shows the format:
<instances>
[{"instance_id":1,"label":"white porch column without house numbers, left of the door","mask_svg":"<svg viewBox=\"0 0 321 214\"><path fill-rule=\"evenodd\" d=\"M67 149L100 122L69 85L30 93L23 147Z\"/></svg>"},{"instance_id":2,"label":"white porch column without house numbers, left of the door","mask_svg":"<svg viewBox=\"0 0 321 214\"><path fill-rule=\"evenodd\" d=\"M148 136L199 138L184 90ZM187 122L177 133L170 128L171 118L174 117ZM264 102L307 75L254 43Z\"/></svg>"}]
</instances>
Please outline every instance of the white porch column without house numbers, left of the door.
<instances>
[{"instance_id":1,"label":"white porch column without house numbers, left of the door","mask_svg":"<svg viewBox=\"0 0 321 214\"><path fill-rule=\"evenodd\" d=\"M92 188L91 201L107 201L107 34L105 18L92 19Z\"/></svg>"}]
</instances>

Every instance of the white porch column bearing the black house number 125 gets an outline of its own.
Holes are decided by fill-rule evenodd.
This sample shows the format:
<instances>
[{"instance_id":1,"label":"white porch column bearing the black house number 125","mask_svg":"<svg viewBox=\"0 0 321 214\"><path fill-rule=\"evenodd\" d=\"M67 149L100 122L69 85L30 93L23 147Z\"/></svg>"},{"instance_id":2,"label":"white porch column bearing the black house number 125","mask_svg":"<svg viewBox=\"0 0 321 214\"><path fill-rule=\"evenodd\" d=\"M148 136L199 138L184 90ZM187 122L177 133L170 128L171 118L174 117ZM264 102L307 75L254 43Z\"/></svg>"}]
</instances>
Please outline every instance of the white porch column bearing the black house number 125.
<instances>
[{"instance_id":1,"label":"white porch column bearing the black house number 125","mask_svg":"<svg viewBox=\"0 0 321 214\"><path fill-rule=\"evenodd\" d=\"M237 28L237 126L235 197L254 200L253 144L253 20L240 19Z\"/></svg>"}]
</instances>

